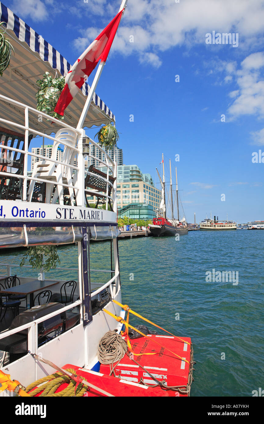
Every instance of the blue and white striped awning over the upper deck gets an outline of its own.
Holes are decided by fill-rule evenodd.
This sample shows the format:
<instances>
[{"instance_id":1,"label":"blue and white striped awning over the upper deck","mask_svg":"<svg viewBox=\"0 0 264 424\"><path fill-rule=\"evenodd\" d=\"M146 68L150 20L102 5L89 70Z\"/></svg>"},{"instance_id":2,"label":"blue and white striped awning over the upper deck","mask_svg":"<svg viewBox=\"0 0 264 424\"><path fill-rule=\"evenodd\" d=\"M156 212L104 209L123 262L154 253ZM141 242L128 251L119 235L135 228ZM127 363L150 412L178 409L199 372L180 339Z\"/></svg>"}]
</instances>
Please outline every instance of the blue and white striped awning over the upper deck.
<instances>
[{"instance_id":1,"label":"blue and white striped awning over the upper deck","mask_svg":"<svg viewBox=\"0 0 264 424\"><path fill-rule=\"evenodd\" d=\"M39 88L36 80L41 79L46 71L55 75L55 70L58 70L65 76L71 65L40 34L1 2L0 21L6 22L6 33L15 50L8 69L3 73L3 77L0 77L0 94L36 108L35 95ZM89 89L90 86L87 83L83 84L82 92L79 91L66 109L64 120L69 125L75 126L75 122L78 122L85 103L84 96L88 95ZM109 119L114 122L114 114L94 93L84 126L99 126L107 123Z\"/></svg>"}]
</instances>

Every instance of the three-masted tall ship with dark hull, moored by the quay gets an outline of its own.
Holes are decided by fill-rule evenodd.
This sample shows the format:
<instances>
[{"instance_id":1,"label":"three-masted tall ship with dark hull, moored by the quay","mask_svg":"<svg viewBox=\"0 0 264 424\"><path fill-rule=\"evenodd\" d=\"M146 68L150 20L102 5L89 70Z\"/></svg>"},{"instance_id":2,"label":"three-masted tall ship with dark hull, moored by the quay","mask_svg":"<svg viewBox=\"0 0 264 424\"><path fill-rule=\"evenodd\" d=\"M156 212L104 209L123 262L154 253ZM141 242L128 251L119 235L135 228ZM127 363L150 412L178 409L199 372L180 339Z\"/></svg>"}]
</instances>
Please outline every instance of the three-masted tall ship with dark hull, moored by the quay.
<instances>
[{"instance_id":1,"label":"three-masted tall ship with dark hull, moored by the quay","mask_svg":"<svg viewBox=\"0 0 264 424\"><path fill-rule=\"evenodd\" d=\"M167 218L167 210L166 210L166 196L165 196L165 176L164 176L164 159L162 153L162 161L163 165L163 179L159 175L158 169L156 171L158 173L158 178L161 183L161 203L159 205L159 209L156 211L156 218L153 219L153 224L149 224L150 232L153 236L174 236L178 234L178 236L183 234L188 234L188 224L186 222L185 217L180 221L179 216L179 195L178 195L178 181L177 181L177 168L176 168L176 200L177 200L177 216L178 218L174 218L173 213L173 195L172 195L172 174L171 174L171 162L170 162L170 206L172 212L172 218ZM161 214L159 213L161 212Z\"/></svg>"}]
</instances>

